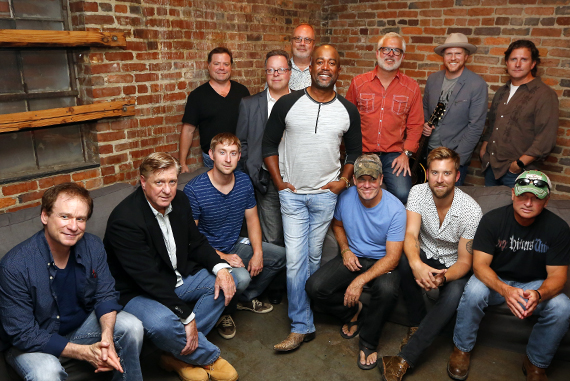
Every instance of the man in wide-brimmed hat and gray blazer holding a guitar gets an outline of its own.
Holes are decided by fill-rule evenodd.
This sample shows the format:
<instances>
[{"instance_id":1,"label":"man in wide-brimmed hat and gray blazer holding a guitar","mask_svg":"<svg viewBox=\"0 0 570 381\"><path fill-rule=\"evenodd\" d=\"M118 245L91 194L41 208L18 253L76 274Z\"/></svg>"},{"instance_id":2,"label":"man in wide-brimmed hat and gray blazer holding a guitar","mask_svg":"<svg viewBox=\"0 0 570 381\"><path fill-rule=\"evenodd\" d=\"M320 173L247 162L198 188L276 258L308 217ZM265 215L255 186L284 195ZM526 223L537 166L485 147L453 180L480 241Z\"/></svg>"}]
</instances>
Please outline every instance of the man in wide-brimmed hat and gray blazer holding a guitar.
<instances>
[{"instance_id":1,"label":"man in wide-brimmed hat and gray blazer holding a guitar","mask_svg":"<svg viewBox=\"0 0 570 381\"><path fill-rule=\"evenodd\" d=\"M487 116L487 83L465 67L477 47L462 33L451 33L445 44L434 51L443 57L444 70L430 75L424 91L424 115L430 118L437 104L445 104L445 114L437 124L424 124L423 134L429 136L428 151L444 146L460 157L460 177L463 185L471 154L479 142Z\"/></svg>"}]
</instances>

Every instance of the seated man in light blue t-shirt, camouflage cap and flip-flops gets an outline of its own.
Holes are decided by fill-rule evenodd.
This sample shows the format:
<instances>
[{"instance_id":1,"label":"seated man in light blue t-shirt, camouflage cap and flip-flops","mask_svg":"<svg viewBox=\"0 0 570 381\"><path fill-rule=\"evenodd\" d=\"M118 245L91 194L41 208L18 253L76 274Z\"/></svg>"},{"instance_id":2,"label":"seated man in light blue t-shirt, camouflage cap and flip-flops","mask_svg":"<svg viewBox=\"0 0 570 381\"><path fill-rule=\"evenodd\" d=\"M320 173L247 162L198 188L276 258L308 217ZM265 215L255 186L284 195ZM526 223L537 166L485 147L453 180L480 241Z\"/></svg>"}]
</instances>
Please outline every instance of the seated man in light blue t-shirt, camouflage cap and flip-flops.
<instances>
[{"instance_id":1,"label":"seated man in light blue t-shirt, camouflage cap and flip-flops","mask_svg":"<svg viewBox=\"0 0 570 381\"><path fill-rule=\"evenodd\" d=\"M341 255L318 269L305 288L316 306L340 318L342 337L360 333L357 364L368 370L376 367L382 327L398 300L395 268L404 247L406 209L380 188L378 155L356 159L353 179L355 186L340 195L332 220ZM371 300L362 311L359 299L366 284Z\"/></svg>"}]
</instances>

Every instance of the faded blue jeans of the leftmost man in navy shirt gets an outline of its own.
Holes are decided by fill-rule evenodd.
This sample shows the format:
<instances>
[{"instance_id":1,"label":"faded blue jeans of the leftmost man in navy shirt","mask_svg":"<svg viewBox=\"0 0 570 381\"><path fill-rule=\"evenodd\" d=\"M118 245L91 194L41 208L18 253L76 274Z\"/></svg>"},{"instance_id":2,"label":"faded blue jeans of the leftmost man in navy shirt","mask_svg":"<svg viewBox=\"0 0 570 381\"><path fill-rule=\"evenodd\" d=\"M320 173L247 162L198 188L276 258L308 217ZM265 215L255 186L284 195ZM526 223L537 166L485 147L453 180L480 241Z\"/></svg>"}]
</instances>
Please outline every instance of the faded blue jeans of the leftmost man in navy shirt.
<instances>
[{"instance_id":1,"label":"faded blue jeans of the leftmost man in navy shirt","mask_svg":"<svg viewBox=\"0 0 570 381\"><path fill-rule=\"evenodd\" d=\"M90 345L101 340L101 325L95 312L92 312L83 324L65 336L69 342ZM142 380L139 356L143 342L143 327L133 315L119 312L113 331L115 351L121 359L124 373L113 372L113 381ZM62 357L63 361L67 359ZM23 353L12 347L6 353L6 361L16 373L25 380L56 381L65 380L67 373L60 360L48 353Z\"/></svg>"}]
</instances>

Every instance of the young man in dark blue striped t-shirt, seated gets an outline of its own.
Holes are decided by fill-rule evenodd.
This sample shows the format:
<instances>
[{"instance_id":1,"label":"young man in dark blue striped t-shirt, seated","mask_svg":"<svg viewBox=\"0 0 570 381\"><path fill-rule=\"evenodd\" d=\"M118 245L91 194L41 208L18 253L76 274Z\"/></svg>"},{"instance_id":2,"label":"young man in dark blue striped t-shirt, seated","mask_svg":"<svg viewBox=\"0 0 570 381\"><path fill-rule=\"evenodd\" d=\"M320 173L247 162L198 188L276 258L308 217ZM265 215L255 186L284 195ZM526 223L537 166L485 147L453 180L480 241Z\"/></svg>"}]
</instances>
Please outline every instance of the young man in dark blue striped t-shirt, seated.
<instances>
[{"instance_id":1,"label":"young man in dark blue striped t-shirt, seated","mask_svg":"<svg viewBox=\"0 0 570 381\"><path fill-rule=\"evenodd\" d=\"M241 155L237 136L221 133L211 141L210 157L214 167L184 187L190 200L198 230L218 255L232 267L238 281L236 298L218 322L218 333L235 336L230 314L237 309L267 313L273 306L257 297L273 277L285 267L285 248L262 242L255 194L249 176L234 170ZM248 238L240 237L245 216Z\"/></svg>"}]
</instances>

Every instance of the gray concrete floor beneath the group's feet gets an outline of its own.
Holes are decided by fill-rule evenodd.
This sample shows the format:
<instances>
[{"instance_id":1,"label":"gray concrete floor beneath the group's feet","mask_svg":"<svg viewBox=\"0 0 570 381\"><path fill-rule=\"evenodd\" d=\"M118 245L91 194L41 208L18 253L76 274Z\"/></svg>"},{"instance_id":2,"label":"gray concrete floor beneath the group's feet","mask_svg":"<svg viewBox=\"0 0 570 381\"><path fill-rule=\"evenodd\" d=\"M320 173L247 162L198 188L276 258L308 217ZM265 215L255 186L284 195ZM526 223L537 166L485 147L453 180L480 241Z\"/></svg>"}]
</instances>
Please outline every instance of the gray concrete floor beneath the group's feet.
<instances>
[{"instance_id":1,"label":"gray concrete floor beneath the group's feet","mask_svg":"<svg viewBox=\"0 0 570 381\"><path fill-rule=\"evenodd\" d=\"M291 353L277 353L273 345L289 333L286 302L273 312L258 315L238 311L234 314L237 334L224 340L214 329L208 339L218 345L222 357L238 371L240 381L345 381L379 380L379 368L360 370L356 365L358 339L345 340L339 335L339 322L316 314L317 337ZM407 328L387 323L382 333L379 356L395 355ZM450 380L446 364L453 349L449 334L438 337L424 353L421 363L409 370L404 380ZM523 354L479 345L472 354L468 380L525 380L522 373ZM145 380L176 381L173 373L157 366L156 354L143 359ZM556 359L548 371L549 380L570 380L570 362Z\"/></svg>"}]
</instances>

